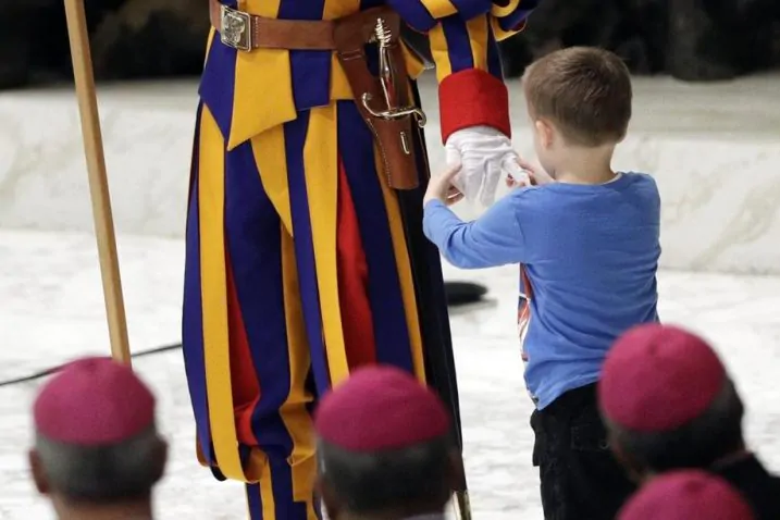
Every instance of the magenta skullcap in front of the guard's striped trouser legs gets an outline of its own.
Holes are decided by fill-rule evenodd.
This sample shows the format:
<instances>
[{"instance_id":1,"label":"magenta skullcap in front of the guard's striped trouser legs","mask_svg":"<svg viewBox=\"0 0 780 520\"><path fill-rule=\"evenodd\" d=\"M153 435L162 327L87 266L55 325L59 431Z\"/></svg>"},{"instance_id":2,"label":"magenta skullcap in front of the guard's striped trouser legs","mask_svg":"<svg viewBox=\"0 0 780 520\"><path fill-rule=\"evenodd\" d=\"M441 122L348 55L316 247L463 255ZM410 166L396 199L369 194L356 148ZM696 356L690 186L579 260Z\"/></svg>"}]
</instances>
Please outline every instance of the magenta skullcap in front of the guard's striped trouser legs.
<instances>
[{"instance_id":1,"label":"magenta skullcap in front of the guard's striped trouser legs","mask_svg":"<svg viewBox=\"0 0 780 520\"><path fill-rule=\"evenodd\" d=\"M355 371L323 397L314 416L322 441L357 453L410 447L447 434L449 425L442 400L391 367Z\"/></svg>"}]
</instances>

